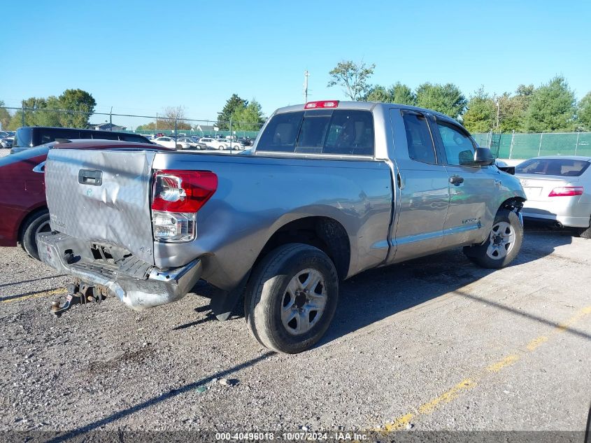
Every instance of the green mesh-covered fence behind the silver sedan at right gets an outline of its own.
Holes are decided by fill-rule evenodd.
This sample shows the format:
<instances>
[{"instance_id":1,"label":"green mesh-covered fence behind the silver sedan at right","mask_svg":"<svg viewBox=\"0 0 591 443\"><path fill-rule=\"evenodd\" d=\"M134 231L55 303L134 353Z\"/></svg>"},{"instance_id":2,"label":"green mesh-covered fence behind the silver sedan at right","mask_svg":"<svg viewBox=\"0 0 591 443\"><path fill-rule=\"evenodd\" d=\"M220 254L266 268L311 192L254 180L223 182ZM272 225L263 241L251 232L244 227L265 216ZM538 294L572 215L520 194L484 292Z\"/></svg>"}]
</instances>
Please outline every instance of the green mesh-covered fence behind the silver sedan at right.
<instances>
[{"instance_id":1,"label":"green mesh-covered fence behind the silver sedan at right","mask_svg":"<svg viewBox=\"0 0 591 443\"><path fill-rule=\"evenodd\" d=\"M540 132L534 134L472 134L497 158L527 160L539 155L586 155L591 157L591 132Z\"/></svg>"}]
</instances>

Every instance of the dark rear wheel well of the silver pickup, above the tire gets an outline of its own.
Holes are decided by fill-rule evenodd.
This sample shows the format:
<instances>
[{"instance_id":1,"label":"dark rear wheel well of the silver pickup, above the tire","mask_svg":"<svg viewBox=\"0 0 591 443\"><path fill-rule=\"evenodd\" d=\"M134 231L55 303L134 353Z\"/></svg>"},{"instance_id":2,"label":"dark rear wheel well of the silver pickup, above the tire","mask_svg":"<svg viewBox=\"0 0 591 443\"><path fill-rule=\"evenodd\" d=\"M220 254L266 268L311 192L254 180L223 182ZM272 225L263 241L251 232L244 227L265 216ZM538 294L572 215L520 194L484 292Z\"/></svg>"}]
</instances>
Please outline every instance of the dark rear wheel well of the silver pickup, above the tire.
<instances>
[{"instance_id":1,"label":"dark rear wheel well of the silver pickup, above the tire","mask_svg":"<svg viewBox=\"0 0 591 443\"><path fill-rule=\"evenodd\" d=\"M347 276L351 257L349 237L343 225L334 218L305 217L283 225L266 242L255 261L255 265L269 251L288 243L303 243L315 246L334 262L340 279Z\"/></svg>"}]
</instances>

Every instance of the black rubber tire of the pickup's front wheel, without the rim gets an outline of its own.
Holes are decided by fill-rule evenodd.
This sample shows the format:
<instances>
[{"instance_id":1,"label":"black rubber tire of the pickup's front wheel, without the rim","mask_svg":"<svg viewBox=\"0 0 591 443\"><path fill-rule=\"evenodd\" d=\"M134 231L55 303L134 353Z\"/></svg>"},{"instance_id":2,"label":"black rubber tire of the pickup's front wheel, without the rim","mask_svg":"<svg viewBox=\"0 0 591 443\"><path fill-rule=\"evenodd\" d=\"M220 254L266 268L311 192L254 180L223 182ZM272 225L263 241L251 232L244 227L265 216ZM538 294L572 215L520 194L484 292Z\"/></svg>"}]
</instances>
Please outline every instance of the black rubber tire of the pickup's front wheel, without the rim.
<instances>
[{"instance_id":1,"label":"black rubber tire of the pickup's front wheel, without the rim","mask_svg":"<svg viewBox=\"0 0 591 443\"><path fill-rule=\"evenodd\" d=\"M487 251L489 251L491 244L494 245L493 237L495 237L495 234L493 231L498 229L497 225L499 225L499 223L508 223L508 225L511 225L508 229L513 230L515 239L511 241L510 246L503 246L506 248L506 255L497 251L498 255L497 257L494 257L487 253ZM466 254L469 260L476 263L478 266L489 269L500 269L506 267L515 257L517 257L522 242L523 227L519 221L517 213L515 213L515 211L509 211L508 209L499 209L497 215L494 217L494 222L492 223L492 231L484 244L478 246L464 246L464 254Z\"/></svg>"}]
</instances>

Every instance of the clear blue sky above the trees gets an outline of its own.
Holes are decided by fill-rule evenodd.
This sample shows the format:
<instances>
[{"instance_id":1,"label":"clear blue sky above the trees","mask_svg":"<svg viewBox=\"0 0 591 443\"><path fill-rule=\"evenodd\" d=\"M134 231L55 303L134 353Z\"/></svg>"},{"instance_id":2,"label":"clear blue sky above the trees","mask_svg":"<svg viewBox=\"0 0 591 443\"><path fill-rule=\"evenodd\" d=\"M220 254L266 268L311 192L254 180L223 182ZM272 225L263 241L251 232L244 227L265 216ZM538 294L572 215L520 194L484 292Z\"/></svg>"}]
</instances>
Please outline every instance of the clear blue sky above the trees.
<instances>
[{"instance_id":1,"label":"clear blue sky above the trees","mask_svg":"<svg viewBox=\"0 0 591 443\"><path fill-rule=\"evenodd\" d=\"M185 106L214 119L236 92L268 115L327 88L342 59L371 83L480 85L491 93L564 75L591 90L590 1L12 1L2 6L0 100L81 88L97 111Z\"/></svg>"}]
</instances>

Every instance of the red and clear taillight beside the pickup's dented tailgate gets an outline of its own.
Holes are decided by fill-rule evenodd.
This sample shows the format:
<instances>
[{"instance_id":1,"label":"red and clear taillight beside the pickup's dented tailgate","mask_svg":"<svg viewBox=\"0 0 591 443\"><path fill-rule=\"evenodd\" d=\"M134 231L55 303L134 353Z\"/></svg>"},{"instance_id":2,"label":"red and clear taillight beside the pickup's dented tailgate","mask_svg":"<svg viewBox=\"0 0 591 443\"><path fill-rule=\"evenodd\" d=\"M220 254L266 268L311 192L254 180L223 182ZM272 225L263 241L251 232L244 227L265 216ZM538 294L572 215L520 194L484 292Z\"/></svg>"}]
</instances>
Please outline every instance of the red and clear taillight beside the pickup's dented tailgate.
<instances>
[{"instance_id":1,"label":"red and clear taillight beside the pickup's dented tailgate","mask_svg":"<svg viewBox=\"0 0 591 443\"><path fill-rule=\"evenodd\" d=\"M156 171L152 188L154 238L159 241L194 239L196 213L217 189L218 176L211 171Z\"/></svg>"}]
</instances>

